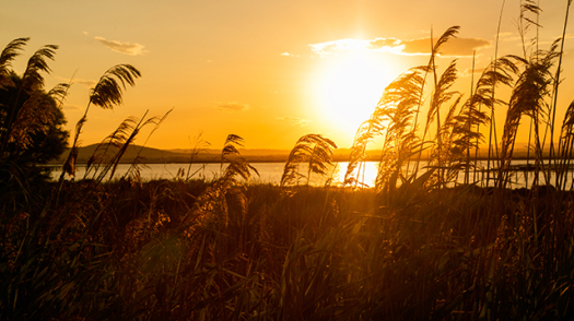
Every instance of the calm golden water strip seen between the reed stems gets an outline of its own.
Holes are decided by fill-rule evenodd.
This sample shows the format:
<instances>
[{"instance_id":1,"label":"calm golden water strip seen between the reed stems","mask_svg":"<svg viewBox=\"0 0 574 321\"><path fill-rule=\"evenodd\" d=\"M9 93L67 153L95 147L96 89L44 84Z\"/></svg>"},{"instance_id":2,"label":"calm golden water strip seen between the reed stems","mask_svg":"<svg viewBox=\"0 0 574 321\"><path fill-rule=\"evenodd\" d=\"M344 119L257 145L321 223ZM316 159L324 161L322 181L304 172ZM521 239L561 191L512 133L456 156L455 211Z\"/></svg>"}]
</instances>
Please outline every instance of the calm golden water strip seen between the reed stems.
<instances>
[{"instance_id":1,"label":"calm golden water strip seen between the reed stems","mask_svg":"<svg viewBox=\"0 0 574 321\"><path fill-rule=\"evenodd\" d=\"M341 162L338 163L337 166L332 168L330 171L329 177L321 178L318 176L313 176L311 179L311 183L314 186L323 186L327 181L328 178L332 178L332 183L340 183L343 180L344 173L347 170L347 166L349 163ZM514 160L513 165L524 165L526 164L526 160ZM530 162L532 164L532 162ZM424 164L423 164L424 165ZM283 174L283 167L284 163L254 163L251 164L257 170L259 171L259 177L254 176L251 178L251 182L254 183L273 183L279 185L281 181L281 175ZM479 166L485 167L485 162L483 164L479 164ZM126 175L127 170L129 169L129 164L120 164L118 166L118 169L114 176L114 178L120 178L124 175ZM225 168L225 165L224 165ZM306 174L307 166L305 164L301 164L300 173ZM411 165L412 170L412 165ZM154 179L177 179L181 178L181 171L184 171L183 178L188 176L188 171L192 175L191 178L194 179L206 179L206 180L212 180L216 177L220 177L222 174L221 165L220 164L192 164L191 167L189 167L189 164L149 164L147 167L143 167L141 169L141 178L142 180L154 180ZM57 180L60 176L61 167L54 167L54 170L51 173L52 179ZM364 182L372 187L374 185L375 178L377 173L377 163L376 162L366 162L365 163L365 170L364 174L361 175L361 178L364 178ZM179 174L179 176L178 176ZM78 171L75 175L77 179L82 179L85 175L85 166L78 166ZM477 173L477 179L480 180L482 177L482 173ZM491 174L492 177L493 174ZM529 171L526 175L528 175L528 185L531 185L534 180L534 173ZM470 175L471 180L473 177L473 174ZM89 177L91 178L91 177ZM464 173L461 173L458 177L459 182L464 182ZM540 177L540 179L543 179ZM543 180L542 180L543 181ZM552 182L554 181L554 176L552 175ZM569 173L569 185L572 182L572 173ZM304 185L306 183L305 180L301 180L300 183ZM489 185L492 185L490 182ZM526 177L524 171L516 171L513 176L513 188L522 188L526 187Z\"/></svg>"}]
</instances>

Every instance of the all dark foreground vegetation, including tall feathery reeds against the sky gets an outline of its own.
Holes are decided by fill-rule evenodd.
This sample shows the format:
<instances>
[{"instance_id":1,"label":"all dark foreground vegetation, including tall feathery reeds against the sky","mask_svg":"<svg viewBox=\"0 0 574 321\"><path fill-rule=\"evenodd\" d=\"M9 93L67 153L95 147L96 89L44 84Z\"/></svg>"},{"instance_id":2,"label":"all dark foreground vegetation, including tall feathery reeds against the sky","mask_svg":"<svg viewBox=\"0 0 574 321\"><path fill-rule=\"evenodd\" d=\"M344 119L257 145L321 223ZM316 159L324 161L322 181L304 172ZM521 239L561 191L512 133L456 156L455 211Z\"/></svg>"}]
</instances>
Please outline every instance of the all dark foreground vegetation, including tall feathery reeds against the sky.
<instances>
[{"instance_id":1,"label":"all dark foreground vegetation, including tall feathery reeds against the sky","mask_svg":"<svg viewBox=\"0 0 574 321\"><path fill-rule=\"evenodd\" d=\"M522 8L524 39L540 9ZM27 39L10 43L0 55L0 319L572 320L574 104L560 107L560 129L555 117L564 37L495 57L462 102L452 91L456 60L442 73L435 64L457 33L447 29L429 64L384 91L358 130L344 181L325 187L311 177L328 173L337 145L318 134L297 141L279 186L245 185L257 170L234 134L211 182L192 180L190 166L174 180L142 182L139 153L106 182L140 130L168 112L126 119L74 178L90 107L121 103L140 76L129 64L91 91L60 179L48 181L37 165L66 146L60 108L70 84L44 91L56 46L17 75L10 62ZM511 96L495 95L497 86ZM506 108L501 135L494 108ZM511 190L524 119L532 188ZM375 138L378 173L364 188Z\"/></svg>"}]
</instances>

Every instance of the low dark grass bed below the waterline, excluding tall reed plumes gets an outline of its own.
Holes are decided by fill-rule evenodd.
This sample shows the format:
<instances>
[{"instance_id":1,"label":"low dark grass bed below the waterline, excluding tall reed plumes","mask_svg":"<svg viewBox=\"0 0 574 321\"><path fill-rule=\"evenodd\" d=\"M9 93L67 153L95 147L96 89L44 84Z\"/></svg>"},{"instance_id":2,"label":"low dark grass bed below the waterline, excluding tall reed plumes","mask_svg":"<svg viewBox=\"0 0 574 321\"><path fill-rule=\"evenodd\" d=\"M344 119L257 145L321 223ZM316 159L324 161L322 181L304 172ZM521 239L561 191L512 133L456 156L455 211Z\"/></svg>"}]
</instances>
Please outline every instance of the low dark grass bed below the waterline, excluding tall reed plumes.
<instances>
[{"instance_id":1,"label":"low dark grass bed below the waterline, excluding tall reed plumes","mask_svg":"<svg viewBox=\"0 0 574 321\"><path fill-rule=\"evenodd\" d=\"M574 316L572 192L57 188L3 197L2 320Z\"/></svg>"}]
</instances>

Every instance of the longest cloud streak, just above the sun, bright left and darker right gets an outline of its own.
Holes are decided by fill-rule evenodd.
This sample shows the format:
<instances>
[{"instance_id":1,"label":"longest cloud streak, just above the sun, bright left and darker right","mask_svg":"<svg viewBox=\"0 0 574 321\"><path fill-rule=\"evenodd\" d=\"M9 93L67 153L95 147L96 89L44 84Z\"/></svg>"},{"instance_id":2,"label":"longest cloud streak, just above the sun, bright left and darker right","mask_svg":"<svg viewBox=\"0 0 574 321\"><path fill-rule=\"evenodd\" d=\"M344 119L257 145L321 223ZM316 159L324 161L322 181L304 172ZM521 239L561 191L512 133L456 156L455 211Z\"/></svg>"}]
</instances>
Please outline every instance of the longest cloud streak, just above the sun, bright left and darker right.
<instances>
[{"instance_id":1,"label":"longest cloud streak, just above the sun, bright left and darker right","mask_svg":"<svg viewBox=\"0 0 574 321\"><path fill-rule=\"evenodd\" d=\"M338 51L375 51L395 55L430 55L431 38L401 40L397 38L340 39L309 45L311 49L321 57ZM453 38L441 47L443 57L471 57L475 50L490 47L490 41L480 38Z\"/></svg>"}]
</instances>

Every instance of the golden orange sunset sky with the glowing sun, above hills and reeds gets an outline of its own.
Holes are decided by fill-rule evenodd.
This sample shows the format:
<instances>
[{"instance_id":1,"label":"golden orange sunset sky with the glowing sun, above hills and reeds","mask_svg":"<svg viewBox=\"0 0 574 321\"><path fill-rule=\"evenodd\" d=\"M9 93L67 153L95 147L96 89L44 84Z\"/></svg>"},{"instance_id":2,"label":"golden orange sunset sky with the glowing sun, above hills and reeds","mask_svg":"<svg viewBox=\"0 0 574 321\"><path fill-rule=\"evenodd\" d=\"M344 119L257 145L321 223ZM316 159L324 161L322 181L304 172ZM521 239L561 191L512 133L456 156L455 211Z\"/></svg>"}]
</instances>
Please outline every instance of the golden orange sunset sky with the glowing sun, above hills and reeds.
<instances>
[{"instance_id":1,"label":"golden orange sunset sky with the glowing sun, above hills and reeds","mask_svg":"<svg viewBox=\"0 0 574 321\"><path fill-rule=\"evenodd\" d=\"M567 1L540 1L540 46L562 34ZM476 67L494 57L501 0L245 0L245 1L4 1L0 46L31 37L14 69L42 45L59 45L47 88L73 76L63 106L68 129L87 104L89 90L110 67L142 72L114 110L92 108L83 145L102 141L129 116L174 111L148 145L189 148L194 138L221 147L230 133L248 148L291 148L307 133L340 147L368 118L386 86L408 68L426 64L431 33L459 25L438 66L458 58L457 90L470 88ZM505 2L499 55L522 55L519 1ZM567 33L572 28L567 29ZM432 31L432 32L431 32ZM536 35L532 28L527 35ZM547 46L547 47L544 47ZM574 97L574 39L566 38L560 91L562 115ZM441 72L442 72L441 70ZM499 108L499 133L504 110ZM560 123L561 123L560 118ZM151 128L150 128L151 129ZM143 143L142 133L137 143ZM519 141L520 138L518 139Z\"/></svg>"}]
</instances>

